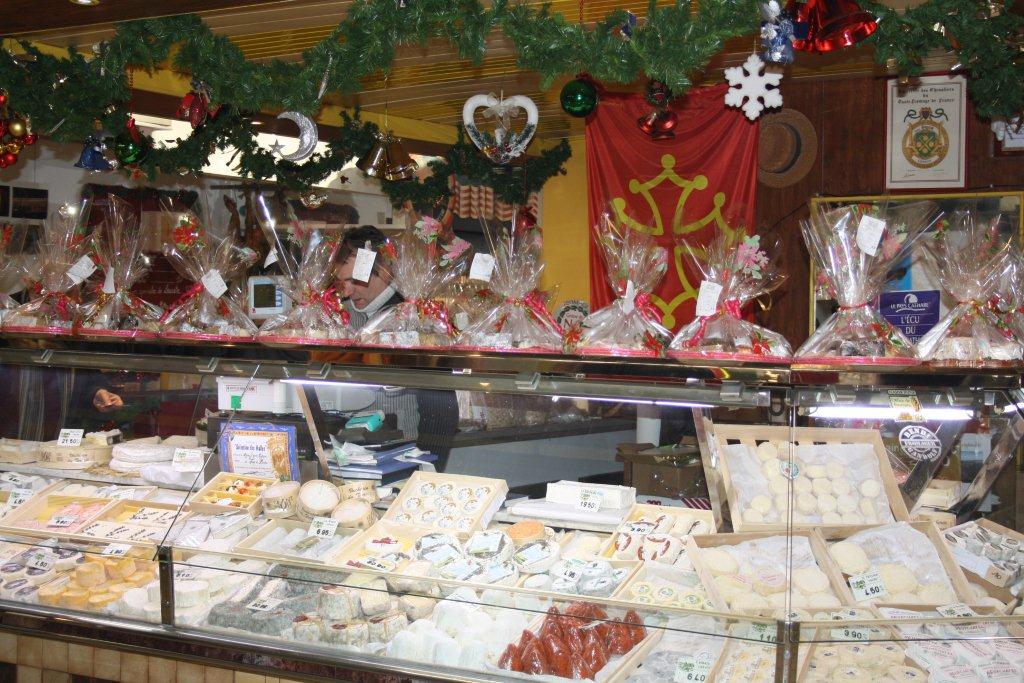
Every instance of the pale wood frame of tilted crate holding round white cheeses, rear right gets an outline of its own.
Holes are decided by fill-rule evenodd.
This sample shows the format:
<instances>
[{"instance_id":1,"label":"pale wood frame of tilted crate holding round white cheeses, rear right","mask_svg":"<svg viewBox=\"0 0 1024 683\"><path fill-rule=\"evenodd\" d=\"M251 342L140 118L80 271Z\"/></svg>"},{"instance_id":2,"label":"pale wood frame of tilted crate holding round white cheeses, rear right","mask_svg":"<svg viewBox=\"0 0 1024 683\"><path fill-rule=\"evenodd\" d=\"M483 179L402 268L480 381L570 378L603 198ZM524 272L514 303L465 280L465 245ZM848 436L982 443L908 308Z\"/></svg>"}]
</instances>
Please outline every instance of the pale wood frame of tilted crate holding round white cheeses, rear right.
<instances>
[{"instance_id":1,"label":"pale wood frame of tilted crate holding round white cheeses, rear right","mask_svg":"<svg viewBox=\"0 0 1024 683\"><path fill-rule=\"evenodd\" d=\"M729 515L732 528L735 531L772 531L790 528L784 520L772 523L749 523L743 521L743 510L739 506L739 496L729 472L726 446L740 443L754 449L762 441L782 441L801 444L828 443L867 443L874 452L879 465L882 488L889 501L889 508L896 521L907 521L910 518L900 493L899 485L893 476L889 456L882 442L882 435L874 429L829 429L824 427L771 427L768 425L729 425L713 426L711 439L714 444L715 457L718 459L718 469L721 473L722 485L729 502ZM710 475L709 475L710 476ZM709 481L711 479L709 478ZM771 497L771 494L765 490ZM820 522L794 522L792 528L812 529L820 526Z\"/></svg>"}]
</instances>

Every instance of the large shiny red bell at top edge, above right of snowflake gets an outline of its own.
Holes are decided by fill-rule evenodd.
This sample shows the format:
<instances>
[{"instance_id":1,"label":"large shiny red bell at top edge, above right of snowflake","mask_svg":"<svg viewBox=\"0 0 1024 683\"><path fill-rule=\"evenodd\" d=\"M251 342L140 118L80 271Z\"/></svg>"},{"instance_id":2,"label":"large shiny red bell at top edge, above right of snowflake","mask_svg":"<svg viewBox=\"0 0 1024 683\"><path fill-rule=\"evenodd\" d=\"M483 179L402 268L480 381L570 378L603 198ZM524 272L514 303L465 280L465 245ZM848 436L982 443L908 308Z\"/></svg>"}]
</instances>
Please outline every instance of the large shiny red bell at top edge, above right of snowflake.
<instances>
[{"instance_id":1,"label":"large shiny red bell at top edge, above right of snowflake","mask_svg":"<svg viewBox=\"0 0 1024 683\"><path fill-rule=\"evenodd\" d=\"M786 11L794 20L794 49L830 52L850 47L879 28L874 15L855 0L790 0Z\"/></svg>"}]
</instances>

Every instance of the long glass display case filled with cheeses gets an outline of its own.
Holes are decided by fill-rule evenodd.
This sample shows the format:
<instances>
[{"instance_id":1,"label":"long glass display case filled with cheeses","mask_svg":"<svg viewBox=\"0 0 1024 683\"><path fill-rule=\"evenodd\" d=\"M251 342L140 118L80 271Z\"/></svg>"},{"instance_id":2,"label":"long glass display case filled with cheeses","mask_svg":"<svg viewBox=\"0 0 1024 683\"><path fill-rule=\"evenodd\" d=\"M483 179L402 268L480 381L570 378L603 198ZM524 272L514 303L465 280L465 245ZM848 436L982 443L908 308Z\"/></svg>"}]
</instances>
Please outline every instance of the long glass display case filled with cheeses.
<instances>
[{"instance_id":1,"label":"long glass display case filled with cheeses","mask_svg":"<svg viewBox=\"0 0 1024 683\"><path fill-rule=\"evenodd\" d=\"M290 675L1019 681L1019 376L0 348L0 625Z\"/></svg>"}]
</instances>

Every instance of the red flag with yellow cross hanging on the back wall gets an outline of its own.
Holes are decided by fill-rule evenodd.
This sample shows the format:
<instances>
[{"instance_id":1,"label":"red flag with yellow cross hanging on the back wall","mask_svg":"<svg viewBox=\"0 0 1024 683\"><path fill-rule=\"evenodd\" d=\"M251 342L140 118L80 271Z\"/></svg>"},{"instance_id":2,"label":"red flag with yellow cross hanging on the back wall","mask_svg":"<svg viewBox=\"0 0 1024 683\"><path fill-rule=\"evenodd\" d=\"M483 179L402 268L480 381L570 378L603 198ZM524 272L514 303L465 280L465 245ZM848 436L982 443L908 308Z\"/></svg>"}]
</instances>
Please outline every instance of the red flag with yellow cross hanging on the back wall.
<instances>
[{"instance_id":1,"label":"red flag with yellow cross hanging on the back wall","mask_svg":"<svg viewBox=\"0 0 1024 683\"><path fill-rule=\"evenodd\" d=\"M673 330L693 319L699 274L684 266L679 238L706 243L716 230L755 227L758 125L723 103L728 86L691 90L674 109L676 137L654 141L637 128L651 111L643 94L603 93L587 122L590 222L611 203L621 220L654 236L673 255L651 301ZM590 298L613 295L597 244L590 245Z\"/></svg>"}]
</instances>

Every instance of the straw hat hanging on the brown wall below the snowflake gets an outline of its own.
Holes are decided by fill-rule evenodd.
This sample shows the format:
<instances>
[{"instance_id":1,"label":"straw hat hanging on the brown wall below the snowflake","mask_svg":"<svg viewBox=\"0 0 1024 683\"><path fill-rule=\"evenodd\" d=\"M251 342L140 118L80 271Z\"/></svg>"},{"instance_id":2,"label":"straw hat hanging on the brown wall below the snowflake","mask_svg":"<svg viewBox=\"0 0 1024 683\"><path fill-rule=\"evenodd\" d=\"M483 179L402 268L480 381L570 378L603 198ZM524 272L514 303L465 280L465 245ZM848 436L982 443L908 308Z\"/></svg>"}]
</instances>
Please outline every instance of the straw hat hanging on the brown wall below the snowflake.
<instances>
[{"instance_id":1,"label":"straw hat hanging on the brown wall below the snowflake","mask_svg":"<svg viewBox=\"0 0 1024 683\"><path fill-rule=\"evenodd\" d=\"M797 110L779 110L761 117L758 179L769 187L786 187L801 180L818 156L818 134L810 119Z\"/></svg>"}]
</instances>

